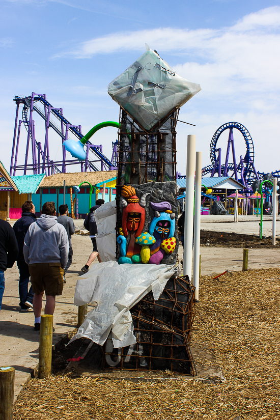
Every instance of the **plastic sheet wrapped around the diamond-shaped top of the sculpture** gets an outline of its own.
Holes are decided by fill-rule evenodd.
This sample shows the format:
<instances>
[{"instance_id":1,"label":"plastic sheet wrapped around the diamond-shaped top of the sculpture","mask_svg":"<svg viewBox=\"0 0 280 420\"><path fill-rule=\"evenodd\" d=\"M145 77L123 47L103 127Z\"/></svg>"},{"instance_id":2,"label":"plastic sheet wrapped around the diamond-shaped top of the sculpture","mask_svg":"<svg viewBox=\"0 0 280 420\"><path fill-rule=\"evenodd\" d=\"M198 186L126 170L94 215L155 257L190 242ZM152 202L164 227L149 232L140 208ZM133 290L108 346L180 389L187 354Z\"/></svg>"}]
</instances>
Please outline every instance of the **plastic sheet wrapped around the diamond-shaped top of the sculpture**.
<instances>
[{"instance_id":1,"label":"plastic sheet wrapped around the diamond-shaped top of the sculpture","mask_svg":"<svg viewBox=\"0 0 280 420\"><path fill-rule=\"evenodd\" d=\"M108 94L145 130L201 90L179 76L159 55L147 51L108 86Z\"/></svg>"}]
</instances>

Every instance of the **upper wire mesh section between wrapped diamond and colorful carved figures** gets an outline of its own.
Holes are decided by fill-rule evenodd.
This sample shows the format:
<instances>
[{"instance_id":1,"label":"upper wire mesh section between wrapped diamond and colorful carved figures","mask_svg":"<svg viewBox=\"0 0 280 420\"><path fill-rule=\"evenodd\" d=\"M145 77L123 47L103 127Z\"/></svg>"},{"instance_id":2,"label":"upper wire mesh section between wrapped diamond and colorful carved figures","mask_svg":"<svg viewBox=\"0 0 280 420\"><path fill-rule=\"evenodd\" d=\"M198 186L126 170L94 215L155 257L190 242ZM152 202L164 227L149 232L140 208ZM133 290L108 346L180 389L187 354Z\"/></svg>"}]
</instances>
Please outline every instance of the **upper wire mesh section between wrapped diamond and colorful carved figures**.
<instances>
[{"instance_id":1,"label":"upper wire mesh section between wrapped diamond and colorful carved figures","mask_svg":"<svg viewBox=\"0 0 280 420\"><path fill-rule=\"evenodd\" d=\"M120 113L117 184L176 181L176 122L179 109L145 131L123 109Z\"/></svg>"}]
</instances>

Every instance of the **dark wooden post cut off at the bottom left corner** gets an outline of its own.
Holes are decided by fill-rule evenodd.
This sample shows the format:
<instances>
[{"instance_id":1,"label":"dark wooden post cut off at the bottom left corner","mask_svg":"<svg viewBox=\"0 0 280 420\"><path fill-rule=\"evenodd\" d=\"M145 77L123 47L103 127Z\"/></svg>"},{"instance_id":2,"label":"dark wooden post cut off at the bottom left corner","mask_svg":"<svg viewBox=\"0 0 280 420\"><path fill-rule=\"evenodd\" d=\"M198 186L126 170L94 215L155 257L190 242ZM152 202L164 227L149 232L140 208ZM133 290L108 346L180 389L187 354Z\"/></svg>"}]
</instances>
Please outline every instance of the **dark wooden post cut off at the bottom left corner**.
<instances>
[{"instance_id":1,"label":"dark wooden post cut off at the bottom left corner","mask_svg":"<svg viewBox=\"0 0 280 420\"><path fill-rule=\"evenodd\" d=\"M13 420L15 368L0 368L0 420Z\"/></svg>"}]
</instances>

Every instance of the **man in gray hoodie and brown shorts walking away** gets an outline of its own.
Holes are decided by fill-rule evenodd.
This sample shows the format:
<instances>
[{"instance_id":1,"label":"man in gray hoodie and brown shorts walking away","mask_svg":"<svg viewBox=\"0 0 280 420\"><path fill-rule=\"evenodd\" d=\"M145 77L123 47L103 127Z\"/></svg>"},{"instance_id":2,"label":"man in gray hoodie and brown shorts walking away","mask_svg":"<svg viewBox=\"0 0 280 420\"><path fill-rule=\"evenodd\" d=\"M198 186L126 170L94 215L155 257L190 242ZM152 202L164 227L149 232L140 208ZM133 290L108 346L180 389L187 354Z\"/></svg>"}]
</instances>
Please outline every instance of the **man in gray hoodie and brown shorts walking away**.
<instances>
[{"instance_id":1,"label":"man in gray hoodie and brown shorts walking away","mask_svg":"<svg viewBox=\"0 0 280 420\"><path fill-rule=\"evenodd\" d=\"M53 315L55 296L62 295L64 268L68 261L67 232L55 214L53 201L43 204L41 216L30 225L24 238L24 260L29 266L34 291L36 331L40 329L43 294L46 294L45 314Z\"/></svg>"}]
</instances>

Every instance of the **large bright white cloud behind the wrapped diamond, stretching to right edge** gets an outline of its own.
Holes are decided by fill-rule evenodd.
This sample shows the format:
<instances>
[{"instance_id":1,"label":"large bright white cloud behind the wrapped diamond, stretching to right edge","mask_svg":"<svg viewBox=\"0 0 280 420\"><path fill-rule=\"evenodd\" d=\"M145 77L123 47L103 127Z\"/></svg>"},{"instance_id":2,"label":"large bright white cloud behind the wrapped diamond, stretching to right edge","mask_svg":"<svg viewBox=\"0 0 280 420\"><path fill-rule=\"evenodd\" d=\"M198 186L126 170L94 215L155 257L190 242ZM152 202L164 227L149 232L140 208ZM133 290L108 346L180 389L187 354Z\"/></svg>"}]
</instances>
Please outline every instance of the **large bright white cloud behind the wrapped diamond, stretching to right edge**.
<instances>
[{"instance_id":1,"label":"large bright white cloud behind the wrapped diamond, stretching to right edge","mask_svg":"<svg viewBox=\"0 0 280 420\"><path fill-rule=\"evenodd\" d=\"M280 7L275 6L251 13L220 30L158 28L115 33L83 42L57 57L85 59L120 51L144 52L146 42L161 55L173 53L175 70L199 82L205 95L217 91L259 95L266 94L272 83L275 90L280 88L279 30Z\"/></svg>"}]
</instances>

